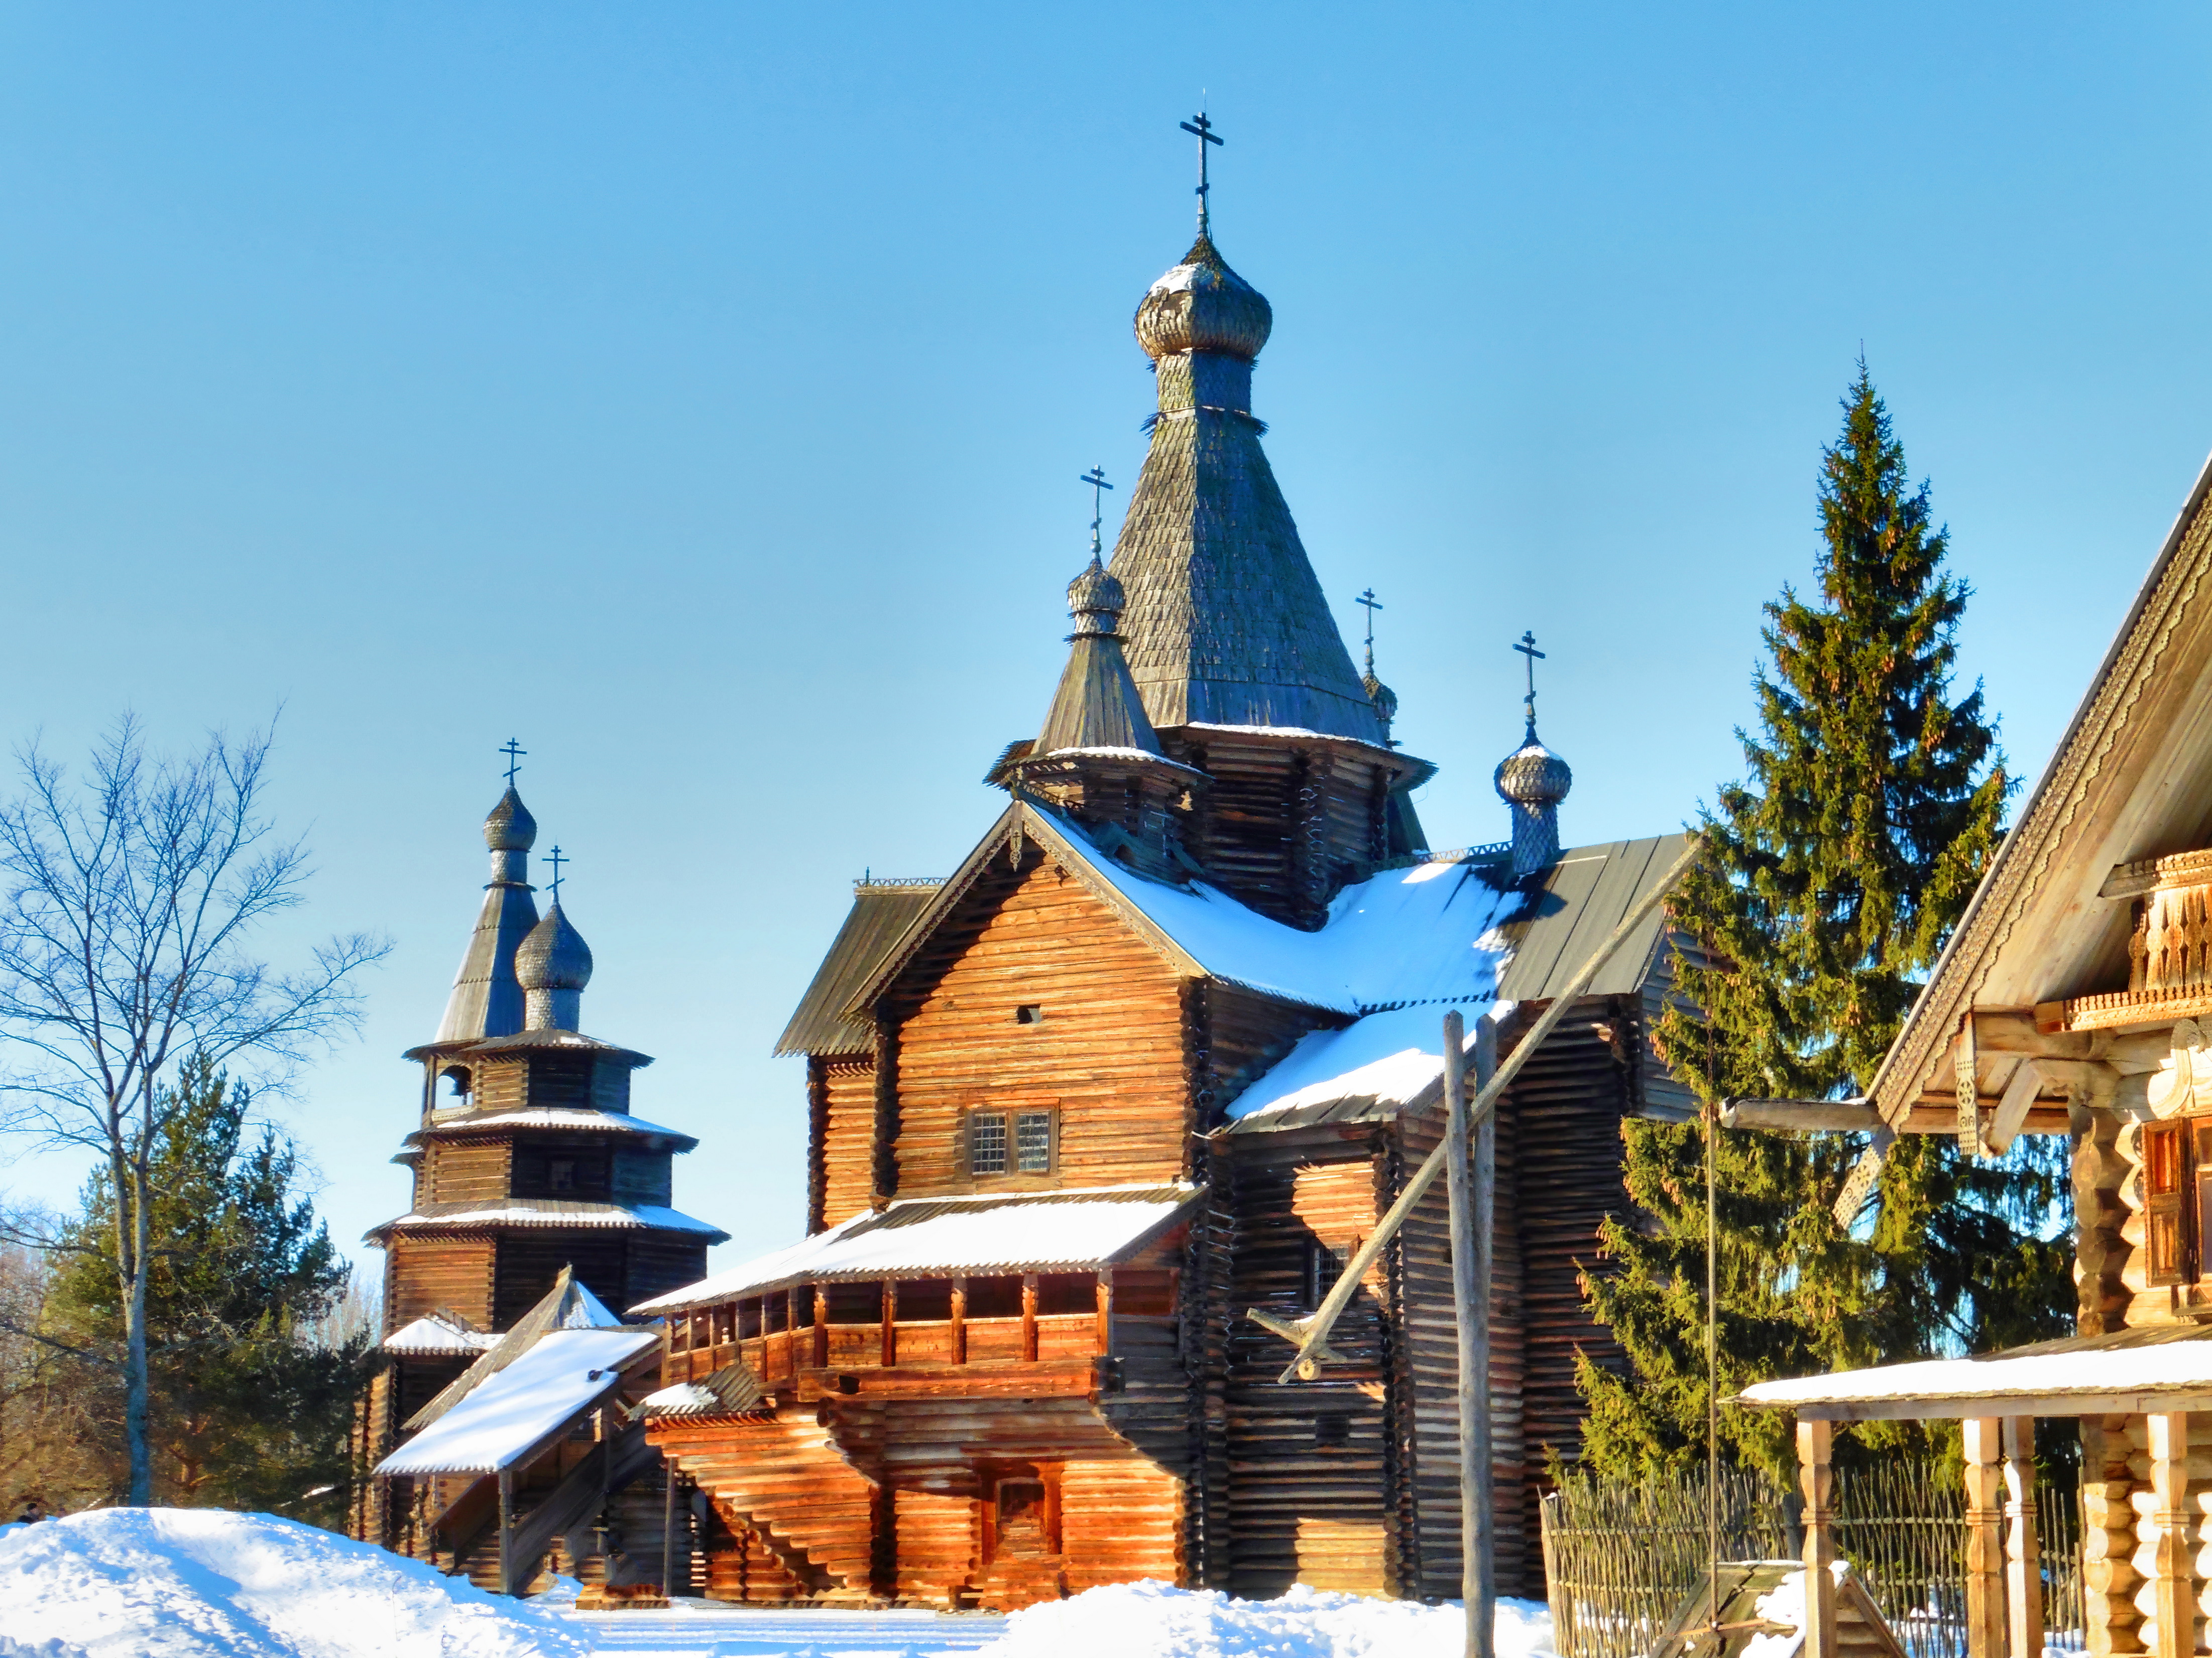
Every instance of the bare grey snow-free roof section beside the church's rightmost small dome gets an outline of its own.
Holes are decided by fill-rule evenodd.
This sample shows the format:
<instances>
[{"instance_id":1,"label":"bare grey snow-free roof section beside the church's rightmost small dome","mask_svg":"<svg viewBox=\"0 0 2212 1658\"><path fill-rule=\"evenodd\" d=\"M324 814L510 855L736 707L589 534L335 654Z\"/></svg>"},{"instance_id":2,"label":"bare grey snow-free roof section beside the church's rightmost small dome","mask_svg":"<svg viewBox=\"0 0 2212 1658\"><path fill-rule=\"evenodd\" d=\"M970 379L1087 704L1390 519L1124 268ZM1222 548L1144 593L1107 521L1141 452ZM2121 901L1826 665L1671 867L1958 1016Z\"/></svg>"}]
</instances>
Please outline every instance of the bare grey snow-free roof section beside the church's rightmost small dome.
<instances>
[{"instance_id":1,"label":"bare grey snow-free roof section beside the church's rightmost small dome","mask_svg":"<svg viewBox=\"0 0 2212 1658\"><path fill-rule=\"evenodd\" d=\"M1511 959L1498 977L1500 1001L1551 1001L1604 944L1637 900L1674 867L1688 836L1613 840L1573 847L1544 871L1535 902L1500 933ZM1666 915L1650 917L1621 942L1584 995L1635 995L1659 957Z\"/></svg>"}]
</instances>

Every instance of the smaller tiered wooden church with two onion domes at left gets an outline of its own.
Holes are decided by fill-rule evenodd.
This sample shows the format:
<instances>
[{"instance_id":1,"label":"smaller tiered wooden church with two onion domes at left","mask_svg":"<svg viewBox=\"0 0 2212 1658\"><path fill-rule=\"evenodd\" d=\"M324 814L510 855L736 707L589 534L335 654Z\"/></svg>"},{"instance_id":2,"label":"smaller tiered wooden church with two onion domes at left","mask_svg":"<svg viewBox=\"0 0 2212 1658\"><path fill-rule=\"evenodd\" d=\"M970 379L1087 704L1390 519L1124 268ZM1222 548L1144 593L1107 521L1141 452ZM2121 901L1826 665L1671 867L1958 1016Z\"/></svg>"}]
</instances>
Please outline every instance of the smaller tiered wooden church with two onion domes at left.
<instances>
[{"instance_id":1,"label":"smaller tiered wooden church with two onion domes at left","mask_svg":"<svg viewBox=\"0 0 2212 1658\"><path fill-rule=\"evenodd\" d=\"M418 1125L394 1163L411 1203L367 1234L385 1251L385 1337L354 1421L352 1530L411 1554L458 1521L369 1470L434 1399L557 1287L628 1307L695 1282L728 1238L670 1207L670 1163L697 1138L630 1112L630 1077L653 1061L577 1030L591 951L557 898L538 915L535 836L509 787L484 820L491 882L438 1037L407 1052Z\"/></svg>"}]
</instances>

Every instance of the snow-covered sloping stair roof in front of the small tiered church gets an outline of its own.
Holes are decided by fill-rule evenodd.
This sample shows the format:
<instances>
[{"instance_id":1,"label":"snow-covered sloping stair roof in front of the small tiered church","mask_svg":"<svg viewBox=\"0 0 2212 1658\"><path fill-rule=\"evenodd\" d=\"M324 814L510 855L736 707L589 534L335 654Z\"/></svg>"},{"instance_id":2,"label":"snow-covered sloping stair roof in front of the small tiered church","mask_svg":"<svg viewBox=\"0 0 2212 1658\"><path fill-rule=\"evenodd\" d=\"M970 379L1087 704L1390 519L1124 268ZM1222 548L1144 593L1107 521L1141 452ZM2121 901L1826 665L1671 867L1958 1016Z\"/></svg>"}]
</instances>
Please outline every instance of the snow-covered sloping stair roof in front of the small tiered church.
<instances>
[{"instance_id":1,"label":"snow-covered sloping stair roof in front of the small tiered church","mask_svg":"<svg viewBox=\"0 0 2212 1658\"><path fill-rule=\"evenodd\" d=\"M546 1435L622 1386L622 1366L659 1346L653 1331L546 1331L422 1433L378 1475L489 1475L526 1457Z\"/></svg>"}]
</instances>

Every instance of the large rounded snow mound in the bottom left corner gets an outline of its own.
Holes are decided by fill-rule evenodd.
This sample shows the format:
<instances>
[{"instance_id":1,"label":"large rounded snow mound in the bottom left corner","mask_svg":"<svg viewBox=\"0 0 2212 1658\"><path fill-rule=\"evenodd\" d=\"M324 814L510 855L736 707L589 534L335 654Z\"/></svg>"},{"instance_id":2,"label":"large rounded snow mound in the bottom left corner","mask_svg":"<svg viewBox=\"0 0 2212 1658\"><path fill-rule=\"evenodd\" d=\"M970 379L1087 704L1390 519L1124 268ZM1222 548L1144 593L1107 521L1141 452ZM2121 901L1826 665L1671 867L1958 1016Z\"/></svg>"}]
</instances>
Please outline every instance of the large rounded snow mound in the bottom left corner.
<instances>
[{"instance_id":1,"label":"large rounded snow mound in the bottom left corner","mask_svg":"<svg viewBox=\"0 0 2212 1658\"><path fill-rule=\"evenodd\" d=\"M584 1658L544 1614L334 1532L215 1508L0 1525L0 1658Z\"/></svg>"}]
</instances>

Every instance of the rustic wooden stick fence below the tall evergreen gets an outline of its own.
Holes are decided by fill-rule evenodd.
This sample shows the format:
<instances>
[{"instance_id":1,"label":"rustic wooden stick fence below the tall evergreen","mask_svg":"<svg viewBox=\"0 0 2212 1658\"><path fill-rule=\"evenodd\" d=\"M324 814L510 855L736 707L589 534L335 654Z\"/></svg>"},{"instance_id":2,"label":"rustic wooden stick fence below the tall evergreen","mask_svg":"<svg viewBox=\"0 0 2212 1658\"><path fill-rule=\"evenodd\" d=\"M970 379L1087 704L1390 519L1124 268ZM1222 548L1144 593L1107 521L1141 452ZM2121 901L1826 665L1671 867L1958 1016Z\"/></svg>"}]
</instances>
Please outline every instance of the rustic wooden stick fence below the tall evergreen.
<instances>
[{"instance_id":1,"label":"rustic wooden stick fence below the tall evergreen","mask_svg":"<svg viewBox=\"0 0 2212 1658\"><path fill-rule=\"evenodd\" d=\"M2037 1486L2048 1645L2081 1649L2081 1517ZM1803 1503L1765 1475L1721 1475L1721 1559L1803 1550ZM1836 1475L1836 1552L1913 1658L1966 1654L1966 1492L1944 1463ZM1568 1475L1544 1499L1544 1572L1559 1658L1641 1658L1705 1572L1705 1475L1621 1486Z\"/></svg>"}]
</instances>

